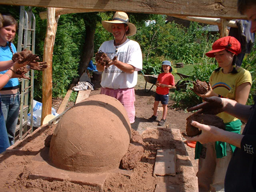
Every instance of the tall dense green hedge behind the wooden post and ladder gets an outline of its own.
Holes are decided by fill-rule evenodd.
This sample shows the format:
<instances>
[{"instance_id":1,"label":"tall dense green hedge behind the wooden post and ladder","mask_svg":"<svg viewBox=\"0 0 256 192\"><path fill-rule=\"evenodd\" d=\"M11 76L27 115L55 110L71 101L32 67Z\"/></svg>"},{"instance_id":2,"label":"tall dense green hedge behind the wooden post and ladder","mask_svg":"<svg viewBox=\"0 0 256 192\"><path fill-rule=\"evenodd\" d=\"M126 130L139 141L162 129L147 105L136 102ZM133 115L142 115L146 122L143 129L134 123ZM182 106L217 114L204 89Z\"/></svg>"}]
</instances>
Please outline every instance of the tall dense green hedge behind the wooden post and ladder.
<instances>
[{"instance_id":1,"label":"tall dense green hedge behind the wooden post and ladder","mask_svg":"<svg viewBox=\"0 0 256 192\"><path fill-rule=\"evenodd\" d=\"M39 9L39 10L38 10ZM35 8L33 12L42 12ZM35 14L37 15L37 14ZM36 54L42 58L47 21L36 17ZM52 97L64 97L68 86L77 77L84 38L83 18L78 14L61 15L58 20L52 58ZM42 97L42 72L35 72L35 98Z\"/></svg>"}]
</instances>

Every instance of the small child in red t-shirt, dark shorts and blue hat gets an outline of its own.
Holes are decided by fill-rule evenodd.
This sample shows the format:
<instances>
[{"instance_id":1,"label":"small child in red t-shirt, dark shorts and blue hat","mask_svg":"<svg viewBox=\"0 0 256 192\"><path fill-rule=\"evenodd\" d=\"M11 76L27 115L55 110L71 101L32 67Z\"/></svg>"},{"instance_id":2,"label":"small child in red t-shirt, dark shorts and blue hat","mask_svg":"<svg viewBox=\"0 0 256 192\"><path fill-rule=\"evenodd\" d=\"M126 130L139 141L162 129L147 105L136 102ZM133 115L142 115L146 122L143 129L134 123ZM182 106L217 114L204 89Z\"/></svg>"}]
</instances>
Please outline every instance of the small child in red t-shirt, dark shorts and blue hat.
<instances>
[{"instance_id":1,"label":"small child in red t-shirt, dark shorts and blue hat","mask_svg":"<svg viewBox=\"0 0 256 192\"><path fill-rule=\"evenodd\" d=\"M158 123L159 126L163 126L165 124L167 115L167 104L169 100L169 90L170 88L175 88L174 77L171 74L172 67L170 61L162 62L161 72L162 73L159 74L156 81L157 88L154 102L154 115L148 118L148 120L150 120L151 122L154 122L157 119L157 107L159 101L161 101L161 104L163 104L163 117L161 118L161 121Z\"/></svg>"}]
</instances>

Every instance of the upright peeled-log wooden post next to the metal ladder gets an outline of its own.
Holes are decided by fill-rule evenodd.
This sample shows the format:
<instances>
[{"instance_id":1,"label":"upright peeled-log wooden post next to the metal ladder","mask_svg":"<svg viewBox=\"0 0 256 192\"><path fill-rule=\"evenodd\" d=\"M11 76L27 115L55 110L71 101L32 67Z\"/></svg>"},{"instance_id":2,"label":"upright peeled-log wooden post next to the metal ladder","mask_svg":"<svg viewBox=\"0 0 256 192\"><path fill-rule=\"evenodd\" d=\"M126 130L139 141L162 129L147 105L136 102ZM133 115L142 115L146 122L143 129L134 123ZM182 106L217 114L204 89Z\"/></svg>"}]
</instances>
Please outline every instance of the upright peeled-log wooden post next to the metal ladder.
<instances>
[{"instance_id":1,"label":"upright peeled-log wooden post next to the metal ladder","mask_svg":"<svg viewBox=\"0 0 256 192\"><path fill-rule=\"evenodd\" d=\"M47 62L48 67L43 71L42 83L42 117L41 124L45 116L51 114L52 108L52 53L57 31L58 19L60 15L55 16L55 8L47 8L47 31L44 41L43 61Z\"/></svg>"}]
</instances>

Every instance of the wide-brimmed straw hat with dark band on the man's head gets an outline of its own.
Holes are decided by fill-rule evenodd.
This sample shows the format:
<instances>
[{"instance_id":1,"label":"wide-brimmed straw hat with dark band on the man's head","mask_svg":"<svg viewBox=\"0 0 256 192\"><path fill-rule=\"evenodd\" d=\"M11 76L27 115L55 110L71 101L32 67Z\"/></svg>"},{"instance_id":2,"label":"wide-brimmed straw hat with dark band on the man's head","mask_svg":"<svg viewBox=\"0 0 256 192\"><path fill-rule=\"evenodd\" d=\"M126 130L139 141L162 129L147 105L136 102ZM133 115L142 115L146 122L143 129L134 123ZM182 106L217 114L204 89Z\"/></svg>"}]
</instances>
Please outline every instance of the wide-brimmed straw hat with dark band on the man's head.
<instances>
[{"instance_id":1,"label":"wide-brimmed straw hat with dark band on the man's head","mask_svg":"<svg viewBox=\"0 0 256 192\"><path fill-rule=\"evenodd\" d=\"M126 33L126 36L135 35L137 29L134 26L134 24L129 22L129 17L125 12L116 12L113 17L113 20L102 20L102 26L110 33L113 32L111 28L111 24L119 24L119 23L125 23L129 26L129 30Z\"/></svg>"}]
</instances>

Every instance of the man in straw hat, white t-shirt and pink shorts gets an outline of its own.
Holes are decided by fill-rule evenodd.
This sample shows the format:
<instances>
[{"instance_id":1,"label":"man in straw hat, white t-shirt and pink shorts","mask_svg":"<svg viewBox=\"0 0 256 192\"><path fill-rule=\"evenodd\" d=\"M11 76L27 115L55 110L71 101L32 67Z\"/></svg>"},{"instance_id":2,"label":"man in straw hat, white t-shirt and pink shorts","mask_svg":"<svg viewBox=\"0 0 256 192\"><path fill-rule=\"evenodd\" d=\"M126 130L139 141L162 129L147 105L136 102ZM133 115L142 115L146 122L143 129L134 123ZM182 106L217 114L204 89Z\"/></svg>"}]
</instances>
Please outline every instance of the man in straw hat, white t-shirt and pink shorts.
<instances>
[{"instance_id":1,"label":"man in straw hat, white t-shirt and pink shorts","mask_svg":"<svg viewBox=\"0 0 256 192\"><path fill-rule=\"evenodd\" d=\"M134 86L138 71L142 69L142 53L140 45L127 36L135 35L136 27L124 12L116 12L113 20L103 20L102 26L113 34L114 40L104 42L99 48L112 60L107 66L96 65L97 70L103 72L100 93L118 99L132 124L135 118Z\"/></svg>"}]
</instances>

